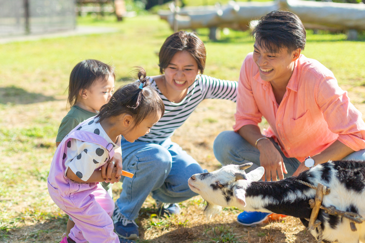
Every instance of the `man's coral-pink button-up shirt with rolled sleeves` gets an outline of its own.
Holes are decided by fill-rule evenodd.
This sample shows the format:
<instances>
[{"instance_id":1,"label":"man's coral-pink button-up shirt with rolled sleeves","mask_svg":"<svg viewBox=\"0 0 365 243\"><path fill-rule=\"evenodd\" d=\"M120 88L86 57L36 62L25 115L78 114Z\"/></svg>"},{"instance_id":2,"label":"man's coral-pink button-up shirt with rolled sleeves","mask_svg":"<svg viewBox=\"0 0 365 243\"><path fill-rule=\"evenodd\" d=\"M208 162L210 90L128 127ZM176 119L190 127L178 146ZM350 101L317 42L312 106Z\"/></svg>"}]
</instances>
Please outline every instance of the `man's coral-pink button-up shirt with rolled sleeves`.
<instances>
[{"instance_id":1,"label":"man's coral-pink button-up shirt with rolled sleeves","mask_svg":"<svg viewBox=\"0 0 365 243\"><path fill-rule=\"evenodd\" d=\"M322 152L336 140L354 151L365 148L361 113L330 70L301 54L278 105L270 82L260 78L252 55L246 56L239 75L234 131L248 124L257 126L263 116L270 125L264 135L274 137L285 156L299 161Z\"/></svg>"}]
</instances>

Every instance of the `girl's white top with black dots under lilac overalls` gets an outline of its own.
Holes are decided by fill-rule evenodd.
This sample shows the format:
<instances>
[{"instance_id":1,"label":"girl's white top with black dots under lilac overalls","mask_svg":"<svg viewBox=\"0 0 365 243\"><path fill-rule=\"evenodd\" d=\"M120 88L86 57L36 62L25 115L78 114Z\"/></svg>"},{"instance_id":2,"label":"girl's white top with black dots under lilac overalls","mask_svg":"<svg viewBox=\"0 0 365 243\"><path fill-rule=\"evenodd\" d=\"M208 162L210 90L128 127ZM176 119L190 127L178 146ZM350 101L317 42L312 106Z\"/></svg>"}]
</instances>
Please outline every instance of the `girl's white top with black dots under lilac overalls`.
<instances>
[{"instance_id":1,"label":"girl's white top with black dots under lilac overalls","mask_svg":"<svg viewBox=\"0 0 365 243\"><path fill-rule=\"evenodd\" d=\"M80 130L92 132L105 138L105 140L113 144L113 149L120 147L120 139L118 138L115 144L107 133L105 133L100 123L96 123L94 119L88 122L88 124L82 125ZM63 155L66 167L65 176L67 170L70 168L83 181L87 181L91 174L103 165L109 157L105 148L92 142L82 142L77 139L72 139L67 142L66 146L67 151Z\"/></svg>"}]
</instances>

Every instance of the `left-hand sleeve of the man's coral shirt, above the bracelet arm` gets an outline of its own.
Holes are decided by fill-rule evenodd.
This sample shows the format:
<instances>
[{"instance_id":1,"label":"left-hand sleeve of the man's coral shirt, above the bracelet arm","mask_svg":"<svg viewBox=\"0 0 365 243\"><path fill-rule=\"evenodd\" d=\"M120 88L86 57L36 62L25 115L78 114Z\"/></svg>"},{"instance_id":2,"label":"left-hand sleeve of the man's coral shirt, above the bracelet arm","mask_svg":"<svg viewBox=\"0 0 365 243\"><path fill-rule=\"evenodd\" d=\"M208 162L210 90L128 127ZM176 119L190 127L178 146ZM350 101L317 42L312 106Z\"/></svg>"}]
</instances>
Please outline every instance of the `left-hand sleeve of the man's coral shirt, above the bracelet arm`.
<instances>
[{"instance_id":1,"label":"left-hand sleeve of the man's coral shirt, above the bracelet arm","mask_svg":"<svg viewBox=\"0 0 365 243\"><path fill-rule=\"evenodd\" d=\"M236 123L233 126L235 132L245 125L257 126L261 122L262 117L251 88L252 63L250 62L252 62L252 58L249 58L250 56L252 55L246 56L239 73L237 111L234 114Z\"/></svg>"}]
</instances>

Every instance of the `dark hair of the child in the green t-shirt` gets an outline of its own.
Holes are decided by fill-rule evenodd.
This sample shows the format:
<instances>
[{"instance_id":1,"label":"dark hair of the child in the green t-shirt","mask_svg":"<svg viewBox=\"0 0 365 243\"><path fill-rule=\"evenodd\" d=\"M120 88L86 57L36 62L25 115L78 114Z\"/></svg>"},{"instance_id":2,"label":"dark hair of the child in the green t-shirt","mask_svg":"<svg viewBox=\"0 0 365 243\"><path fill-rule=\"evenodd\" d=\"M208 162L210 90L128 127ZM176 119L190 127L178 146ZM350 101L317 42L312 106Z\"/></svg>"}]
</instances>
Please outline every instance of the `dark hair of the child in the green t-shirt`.
<instances>
[{"instance_id":1,"label":"dark hair of the child in the green t-shirt","mask_svg":"<svg viewBox=\"0 0 365 243\"><path fill-rule=\"evenodd\" d=\"M70 74L67 103L70 106L75 105L80 90L90 89L97 79L103 78L106 81L109 76L115 79L114 68L108 64L94 59L87 59L77 63Z\"/></svg>"}]
</instances>

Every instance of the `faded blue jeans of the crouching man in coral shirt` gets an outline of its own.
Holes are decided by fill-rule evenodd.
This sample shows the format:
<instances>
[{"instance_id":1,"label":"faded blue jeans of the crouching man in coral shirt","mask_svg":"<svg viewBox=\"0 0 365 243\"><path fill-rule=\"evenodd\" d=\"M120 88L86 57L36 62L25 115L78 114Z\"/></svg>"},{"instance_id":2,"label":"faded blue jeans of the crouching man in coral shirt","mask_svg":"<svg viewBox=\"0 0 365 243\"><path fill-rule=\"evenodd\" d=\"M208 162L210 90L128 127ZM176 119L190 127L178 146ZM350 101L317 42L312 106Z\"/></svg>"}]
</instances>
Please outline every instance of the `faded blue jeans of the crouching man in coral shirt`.
<instances>
[{"instance_id":1,"label":"faded blue jeans of the crouching man in coral shirt","mask_svg":"<svg viewBox=\"0 0 365 243\"><path fill-rule=\"evenodd\" d=\"M299 160L285 157L273 138L270 138L270 141L273 142L275 148L283 157L285 168L288 171L288 174L284 174L284 177L292 176L300 165ZM233 131L220 133L214 140L213 151L215 157L222 165L241 165L253 162L253 165L245 170L246 172L250 172L260 166L260 151L241 137L241 135ZM353 152L342 160L365 160L365 149Z\"/></svg>"}]
</instances>

